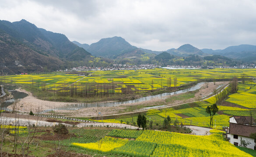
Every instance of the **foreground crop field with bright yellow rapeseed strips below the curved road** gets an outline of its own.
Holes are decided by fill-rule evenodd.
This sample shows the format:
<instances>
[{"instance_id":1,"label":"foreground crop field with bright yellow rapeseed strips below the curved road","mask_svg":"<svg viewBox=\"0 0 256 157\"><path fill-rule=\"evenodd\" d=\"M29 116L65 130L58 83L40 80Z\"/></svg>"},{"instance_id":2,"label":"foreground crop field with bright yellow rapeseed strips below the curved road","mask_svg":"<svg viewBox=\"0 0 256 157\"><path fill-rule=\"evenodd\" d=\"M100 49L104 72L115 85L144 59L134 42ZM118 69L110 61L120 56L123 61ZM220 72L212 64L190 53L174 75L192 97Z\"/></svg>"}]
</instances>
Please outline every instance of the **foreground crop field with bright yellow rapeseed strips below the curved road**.
<instances>
[{"instance_id":1,"label":"foreground crop field with bright yellow rapeseed strips below the curved road","mask_svg":"<svg viewBox=\"0 0 256 157\"><path fill-rule=\"evenodd\" d=\"M21 128L26 130L26 128ZM51 127L39 127L30 145L29 155L46 156L63 152L87 154L94 157L253 157L246 149L224 140L220 130L210 136L196 136L154 130L123 130L106 127L69 127L69 134L56 137ZM6 137L4 152L10 154L14 135ZM28 133L19 133L22 141ZM35 143L35 144L33 144ZM37 143L37 144L36 144ZM59 146L57 149L56 146ZM10 148L11 147L11 148ZM42 147L42 148L41 148ZM21 145L17 145L21 153ZM38 149L37 148L41 148ZM36 151L34 151L36 150ZM40 155L39 155L40 154Z\"/></svg>"}]
</instances>

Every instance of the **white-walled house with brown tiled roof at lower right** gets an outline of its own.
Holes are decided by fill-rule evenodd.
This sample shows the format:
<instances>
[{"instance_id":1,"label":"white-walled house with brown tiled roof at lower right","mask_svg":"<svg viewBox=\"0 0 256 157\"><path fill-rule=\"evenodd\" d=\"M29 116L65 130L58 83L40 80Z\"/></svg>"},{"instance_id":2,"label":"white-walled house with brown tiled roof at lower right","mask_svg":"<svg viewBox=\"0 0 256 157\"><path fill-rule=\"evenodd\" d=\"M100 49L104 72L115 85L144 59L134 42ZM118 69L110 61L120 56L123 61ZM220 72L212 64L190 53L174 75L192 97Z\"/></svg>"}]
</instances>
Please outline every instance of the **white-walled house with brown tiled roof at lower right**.
<instances>
[{"instance_id":1,"label":"white-walled house with brown tiled roof at lower right","mask_svg":"<svg viewBox=\"0 0 256 157\"><path fill-rule=\"evenodd\" d=\"M254 139L250 137L251 133L256 133L256 126L252 125L255 119L250 116L231 116L229 117L229 130L227 137L230 143L239 146L242 140L249 141L247 148L256 150Z\"/></svg>"}]
</instances>

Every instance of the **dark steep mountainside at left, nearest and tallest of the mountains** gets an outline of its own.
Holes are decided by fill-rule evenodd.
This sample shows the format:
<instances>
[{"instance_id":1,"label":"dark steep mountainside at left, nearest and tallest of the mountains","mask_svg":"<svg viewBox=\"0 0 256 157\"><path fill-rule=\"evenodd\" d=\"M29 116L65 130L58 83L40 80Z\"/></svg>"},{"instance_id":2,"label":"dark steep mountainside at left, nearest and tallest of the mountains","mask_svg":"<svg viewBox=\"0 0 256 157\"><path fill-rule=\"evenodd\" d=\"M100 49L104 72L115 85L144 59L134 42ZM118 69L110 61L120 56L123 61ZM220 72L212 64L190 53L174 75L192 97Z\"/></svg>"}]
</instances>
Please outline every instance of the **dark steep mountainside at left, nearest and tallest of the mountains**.
<instances>
[{"instance_id":1,"label":"dark steep mountainside at left, nearest and tallest of the mountains","mask_svg":"<svg viewBox=\"0 0 256 157\"><path fill-rule=\"evenodd\" d=\"M26 20L0 20L0 67L10 71L56 70L65 61L86 61L91 54L64 34L38 28Z\"/></svg>"}]
</instances>

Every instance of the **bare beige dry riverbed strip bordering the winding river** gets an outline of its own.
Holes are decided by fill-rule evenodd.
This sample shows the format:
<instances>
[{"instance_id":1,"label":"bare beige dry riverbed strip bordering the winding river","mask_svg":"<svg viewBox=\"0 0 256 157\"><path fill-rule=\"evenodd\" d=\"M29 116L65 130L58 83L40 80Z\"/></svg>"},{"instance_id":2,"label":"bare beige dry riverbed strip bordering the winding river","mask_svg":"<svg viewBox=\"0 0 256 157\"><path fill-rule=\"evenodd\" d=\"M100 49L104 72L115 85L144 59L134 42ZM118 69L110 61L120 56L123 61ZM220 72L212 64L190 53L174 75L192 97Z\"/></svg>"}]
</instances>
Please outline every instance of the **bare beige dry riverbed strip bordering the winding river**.
<instances>
[{"instance_id":1,"label":"bare beige dry riverbed strip bordering the winding river","mask_svg":"<svg viewBox=\"0 0 256 157\"><path fill-rule=\"evenodd\" d=\"M164 99L153 99L149 101L144 102L137 102L137 103L130 103L125 104L122 106L115 106L115 107L90 107L90 108L81 108L77 110L67 110L67 109L60 109L65 108L69 105L77 104L75 102L52 102L47 100L41 100L35 98L35 96L32 95L31 92L28 92L24 89L16 89L19 92L25 92L28 94L27 97L20 99L17 102L18 111L21 113L28 113L30 110L32 111L43 111L43 110L49 110L54 109L55 113L58 114L65 114L65 115L72 115L72 116L97 116L98 113L101 113L102 115L111 115L111 114L118 114L118 113L136 113L136 110L140 111L146 111L144 107L149 106L162 106L165 105L165 107L170 106L177 106L188 102L196 102L202 99L205 99L209 96L213 95L214 89L221 89L228 85L229 82L209 82L208 88L206 88L205 85L202 85L199 90L196 90L193 92L193 96L191 98L185 98L185 99L179 99L179 96L185 95L185 94L178 94L173 96L166 96ZM172 99L172 97L175 97L176 99ZM182 97L181 97L182 98ZM8 109L13 109L14 105L8 106Z\"/></svg>"}]
</instances>

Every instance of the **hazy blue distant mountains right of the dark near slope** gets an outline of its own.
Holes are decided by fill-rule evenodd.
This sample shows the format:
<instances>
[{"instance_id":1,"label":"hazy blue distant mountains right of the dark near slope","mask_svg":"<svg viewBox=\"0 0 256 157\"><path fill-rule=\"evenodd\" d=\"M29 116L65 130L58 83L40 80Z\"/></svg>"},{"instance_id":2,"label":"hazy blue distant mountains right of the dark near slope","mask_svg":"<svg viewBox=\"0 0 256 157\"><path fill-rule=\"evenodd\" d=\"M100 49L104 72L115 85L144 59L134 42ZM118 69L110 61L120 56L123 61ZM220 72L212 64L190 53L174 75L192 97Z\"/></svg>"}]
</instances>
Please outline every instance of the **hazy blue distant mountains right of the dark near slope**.
<instances>
[{"instance_id":1,"label":"hazy blue distant mountains right of the dark near slope","mask_svg":"<svg viewBox=\"0 0 256 157\"><path fill-rule=\"evenodd\" d=\"M88 44L80 44L77 41L73 41L74 44L84 48L92 55L108 57L108 58L118 58L120 56L132 57L136 56L135 53L139 54L155 54L158 55L164 51L152 51L143 48L137 48L121 37L104 38L100 41ZM239 59L241 61L255 61L256 60L256 46L249 44L241 44L238 46L230 46L224 50L212 50L212 49L198 49L190 44L184 44L179 48L171 48L166 50L170 55L175 55L179 57L187 57L189 55L198 55L200 57L205 57L209 55L222 55L228 58ZM130 56L129 56L130 54Z\"/></svg>"}]
</instances>

